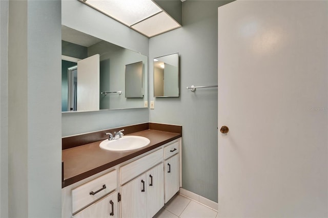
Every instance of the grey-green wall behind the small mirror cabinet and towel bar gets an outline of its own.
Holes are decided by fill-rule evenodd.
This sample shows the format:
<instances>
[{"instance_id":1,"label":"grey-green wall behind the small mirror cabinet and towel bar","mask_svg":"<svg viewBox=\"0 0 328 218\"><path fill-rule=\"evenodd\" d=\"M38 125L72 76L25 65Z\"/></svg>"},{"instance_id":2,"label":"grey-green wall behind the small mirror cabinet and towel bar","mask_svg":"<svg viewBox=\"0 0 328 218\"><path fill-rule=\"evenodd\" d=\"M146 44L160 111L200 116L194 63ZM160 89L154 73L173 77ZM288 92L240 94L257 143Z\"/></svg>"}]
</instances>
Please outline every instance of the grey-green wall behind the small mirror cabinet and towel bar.
<instances>
[{"instance_id":1,"label":"grey-green wall behind the small mirror cabinet and towel bar","mask_svg":"<svg viewBox=\"0 0 328 218\"><path fill-rule=\"evenodd\" d=\"M154 57L179 52L180 97L154 98L151 122L182 125L182 187L217 202L217 9L230 1L185 1L182 27L149 40L149 81Z\"/></svg>"}]
</instances>

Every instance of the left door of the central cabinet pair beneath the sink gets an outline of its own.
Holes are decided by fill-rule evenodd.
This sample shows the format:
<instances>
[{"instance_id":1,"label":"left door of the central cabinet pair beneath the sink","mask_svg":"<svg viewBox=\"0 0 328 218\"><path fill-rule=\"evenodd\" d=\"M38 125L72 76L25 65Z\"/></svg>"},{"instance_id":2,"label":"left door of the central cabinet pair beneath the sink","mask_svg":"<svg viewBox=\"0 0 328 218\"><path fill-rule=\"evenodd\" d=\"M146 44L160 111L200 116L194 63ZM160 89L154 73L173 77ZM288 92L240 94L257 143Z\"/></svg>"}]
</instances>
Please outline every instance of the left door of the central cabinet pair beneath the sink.
<instances>
[{"instance_id":1,"label":"left door of the central cabinet pair beneath the sink","mask_svg":"<svg viewBox=\"0 0 328 218\"><path fill-rule=\"evenodd\" d=\"M121 186L122 218L146 217L146 188L146 173Z\"/></svg>"}]
</instances>

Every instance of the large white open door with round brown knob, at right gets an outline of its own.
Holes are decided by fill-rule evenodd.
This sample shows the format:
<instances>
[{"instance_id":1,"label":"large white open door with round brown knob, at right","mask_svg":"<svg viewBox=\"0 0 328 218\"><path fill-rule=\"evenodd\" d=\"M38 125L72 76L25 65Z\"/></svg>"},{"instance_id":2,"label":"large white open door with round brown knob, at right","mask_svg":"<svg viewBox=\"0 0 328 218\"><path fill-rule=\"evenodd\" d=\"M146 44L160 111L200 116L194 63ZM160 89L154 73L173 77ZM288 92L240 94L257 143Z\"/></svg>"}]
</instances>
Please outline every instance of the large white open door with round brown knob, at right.
<instances>
[{"instance_id":1,"label":"large white open door with round brown knob, at right","mask_svg":"<svg viewBox=\"0 0 328 218\"><path fill-rule=\"evenodd\" d=\"M219 7L219 217L328 216L327 3Z\"/></svg>"}]
</instances>

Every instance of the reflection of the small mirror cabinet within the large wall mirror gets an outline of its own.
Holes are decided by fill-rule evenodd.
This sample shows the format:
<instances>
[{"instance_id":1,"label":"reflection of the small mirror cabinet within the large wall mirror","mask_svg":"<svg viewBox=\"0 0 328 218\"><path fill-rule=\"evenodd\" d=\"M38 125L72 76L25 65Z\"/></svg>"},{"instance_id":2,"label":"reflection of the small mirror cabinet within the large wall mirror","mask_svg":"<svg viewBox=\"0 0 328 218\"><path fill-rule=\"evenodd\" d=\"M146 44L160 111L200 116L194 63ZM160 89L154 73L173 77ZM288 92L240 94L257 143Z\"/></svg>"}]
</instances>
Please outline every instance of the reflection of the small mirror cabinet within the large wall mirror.
<instances>
[{"instance_id":1,"label":"reflection of the small mirror cabinet within the large wall mirror","mask_svg":"<svg viewBox=\"0 0 328 218\"><path fill-rule=\"evenodd\" d=\"M143 75L144 64L142 61L130 63L125 66L125 97L144 97Z\"/></svg>"}]
</instances>

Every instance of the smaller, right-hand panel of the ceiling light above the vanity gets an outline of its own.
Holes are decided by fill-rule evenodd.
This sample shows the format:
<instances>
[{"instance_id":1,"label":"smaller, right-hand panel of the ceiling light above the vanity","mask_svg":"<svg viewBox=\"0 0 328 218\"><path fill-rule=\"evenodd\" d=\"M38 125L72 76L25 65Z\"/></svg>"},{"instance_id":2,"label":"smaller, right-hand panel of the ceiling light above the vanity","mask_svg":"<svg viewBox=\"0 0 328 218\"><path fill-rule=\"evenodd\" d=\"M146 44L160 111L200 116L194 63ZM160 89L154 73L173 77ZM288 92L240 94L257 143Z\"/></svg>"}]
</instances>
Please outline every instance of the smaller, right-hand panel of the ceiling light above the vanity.
<instances>
[{"instance_id":1,"label":"smaller, right-hand panel of the ceiling light above the vanity","mask_svg":"<svg viewBox=\"0 0 328 218\"><path fill-rule=\"evenodd\" d=\"M165 12L156 14L132 26L133 29L147 35L148 37L152 37L179 27L181 27L181 25Z\"/></svg>"}]
</instances>

